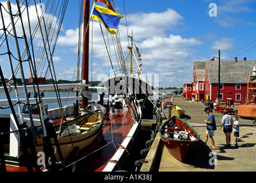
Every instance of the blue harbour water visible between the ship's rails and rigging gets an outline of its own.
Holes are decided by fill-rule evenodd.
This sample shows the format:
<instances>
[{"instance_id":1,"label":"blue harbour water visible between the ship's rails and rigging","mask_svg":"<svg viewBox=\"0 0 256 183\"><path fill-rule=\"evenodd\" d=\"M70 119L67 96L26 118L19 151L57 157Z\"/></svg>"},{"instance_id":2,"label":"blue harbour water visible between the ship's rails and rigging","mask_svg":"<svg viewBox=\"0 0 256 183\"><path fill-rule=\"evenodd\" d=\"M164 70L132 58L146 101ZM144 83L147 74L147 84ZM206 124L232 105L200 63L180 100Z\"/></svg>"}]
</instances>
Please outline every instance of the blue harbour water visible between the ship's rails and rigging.
<instances>
[{"instance_id":1,"label":"blue harbour water visible between the ship's rails and rigging","mask_svg":"<svg viewBox=\"0 0 256 183\"><path fill-rule=\"evenodd\" d=\"M44 95L46 98L51 98L51 97L56 97L56 93L55 92L44 92ZM97 100L98 99L98 93L97 92L93 92L92 93L92 99L93 100ZM76 97L76 92L60 92L60 96L61 97ZM107 95L106 95L107 96ZM106 97L105 96L105 97ZM16 98L15 93L10 93L10 97L11 98ZM30 98L33 98L34 94L31 94ZM19 93L19 98L25 98L24 97L24 93L20 92ZM6 95L4 93L0 94L0 100L6 100ZM64 107L65 105L70 105L70 104L74 104L76 103L76 101L68 101L68 102L62 102L62 106ZM7 108L8 106L3 106L3 108ZM54 103L48 103L48 109L53 109L53 108L58 108L58 103L54 102ZM23 105L21 106L21 108L23 108ZM18 113L18 106L14 106L15 112ZM11 110L10 109L0 109L0 114L10 114Z\"/></svg>"}]
</instances>

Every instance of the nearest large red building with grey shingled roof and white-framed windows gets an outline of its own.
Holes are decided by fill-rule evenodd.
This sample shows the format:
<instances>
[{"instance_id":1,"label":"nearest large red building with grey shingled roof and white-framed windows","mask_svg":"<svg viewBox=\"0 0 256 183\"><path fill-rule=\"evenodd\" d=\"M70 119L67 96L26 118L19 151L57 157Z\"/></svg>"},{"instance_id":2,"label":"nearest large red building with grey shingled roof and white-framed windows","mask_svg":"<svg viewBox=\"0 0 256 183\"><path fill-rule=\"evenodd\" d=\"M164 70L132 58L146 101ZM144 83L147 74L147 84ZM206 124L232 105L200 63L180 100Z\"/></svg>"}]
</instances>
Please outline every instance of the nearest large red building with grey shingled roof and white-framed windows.
<instances>
[{"instance_id":1,"label":"nearest large red building with grey shingled roof and white-framed windows","mask_svg":"<svg viewBox=\"0 0 256 183\"><path fill-rule=\"evenodd\" d=\"M253 73L256 61L220 61L220 104L233 99L234 104L246 100L248 75ZM218 98L218 61L206 61L204 73L204 101Z\"/></svg>"}]
</instances>

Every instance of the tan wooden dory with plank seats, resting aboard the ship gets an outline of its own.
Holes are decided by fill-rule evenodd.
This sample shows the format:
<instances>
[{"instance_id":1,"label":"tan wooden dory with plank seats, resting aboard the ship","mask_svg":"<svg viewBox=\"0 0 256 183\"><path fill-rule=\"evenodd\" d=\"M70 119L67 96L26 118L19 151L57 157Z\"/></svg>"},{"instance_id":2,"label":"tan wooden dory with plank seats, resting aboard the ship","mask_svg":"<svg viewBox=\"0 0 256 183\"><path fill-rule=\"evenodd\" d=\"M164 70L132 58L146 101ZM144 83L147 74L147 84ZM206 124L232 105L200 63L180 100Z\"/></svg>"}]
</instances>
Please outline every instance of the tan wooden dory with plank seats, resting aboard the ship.
<instances>
[{"instance_id":1,"label":"tan wooden dory with plank seats, resting aboard the ship","mask_svg":"<svg viewBox=\"0 0 256 183\"><path fill-rule=\"evenodd\" d=\"M100 113L101 111L99 110L98 112ZM103 119L104 117L100 114L88 113L61 124L61 130L60 125L54 126L56 133L58 133L58 130L60 130L60 134L68 133L67 136L63 137L62 135L58 139L64 160L70 156L73 151L73 147L78 147L79 150L82 150L88 145L92 144L92 142L97 138L97 136L99 136L101 132ZM67 132L67 126L69 126L69 132ZM77 130L78 133L74 134L74 130ZM71 132L72 134L69 136L69 133ZM43 141L39 136L40 135L38 135L38 145L36 146L36 150L38 152L43 152ZM51 138L51 142L53 148L55 149L56 146L53 138ZM60 160L58 153L56 153L56 158L57 160Z\"/></svg>"}]
</instances>

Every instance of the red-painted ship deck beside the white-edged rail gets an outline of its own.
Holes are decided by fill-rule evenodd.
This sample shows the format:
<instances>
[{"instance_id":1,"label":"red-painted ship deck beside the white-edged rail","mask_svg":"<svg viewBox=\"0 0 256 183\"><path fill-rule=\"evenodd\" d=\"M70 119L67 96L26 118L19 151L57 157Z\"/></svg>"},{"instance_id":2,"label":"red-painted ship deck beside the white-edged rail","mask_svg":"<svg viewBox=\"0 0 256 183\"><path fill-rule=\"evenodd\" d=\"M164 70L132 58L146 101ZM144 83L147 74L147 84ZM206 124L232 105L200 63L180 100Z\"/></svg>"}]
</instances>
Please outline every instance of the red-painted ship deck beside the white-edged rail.
<instances>
[{"instance_id":1,"label":"red-painted ship deck beside the white-edged rail","mask_svg":"<svg viewBox=\"0 0 256 183\"><path fill-rule=\"evenodd\" d=\"M103 121L103 134L99 142L96 142L93 147L87 148L78 157L85 156L79 162L79 171L101 172L119 148L117 144L121 144L124 138L127 137L131 130L131 124L132 118L128 111L116 110L114 115L106 116Z\"/></svg>"}]
</instances>

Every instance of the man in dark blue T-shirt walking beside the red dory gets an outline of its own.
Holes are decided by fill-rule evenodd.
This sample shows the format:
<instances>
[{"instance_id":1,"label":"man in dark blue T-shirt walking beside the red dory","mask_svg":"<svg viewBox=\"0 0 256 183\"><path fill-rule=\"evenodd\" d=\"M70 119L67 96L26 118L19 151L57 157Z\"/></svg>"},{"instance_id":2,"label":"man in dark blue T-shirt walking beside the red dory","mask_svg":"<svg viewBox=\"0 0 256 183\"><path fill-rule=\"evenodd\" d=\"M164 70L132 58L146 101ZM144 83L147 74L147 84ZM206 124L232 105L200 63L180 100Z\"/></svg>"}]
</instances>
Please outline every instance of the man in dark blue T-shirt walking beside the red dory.
<instances>
[{"instance_id":1,"label":"man in dark blue T-shirt walking beside the red dory","mask_svg":"<svg viewBox=\"0 0 256 183\"><path fill-rule=\"evenodd\" d=\"M204 120L204 123L206 124L206 134L205 134L205 138L204 138L204 143L205 144L207 143L208 136L209 136L211 144L212 144L211 149L216 149L215 143L214 143L214 138L213 138L215 130L216 130L215 117L214 117L214 114L211 113L211 109L209 107L206 107L204 109L204 112L206 112L208 114L207 120Z\"/></svg>"}]
</instances>

